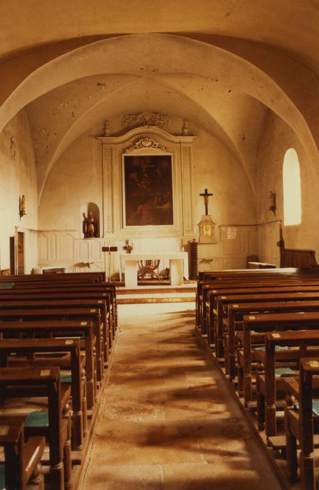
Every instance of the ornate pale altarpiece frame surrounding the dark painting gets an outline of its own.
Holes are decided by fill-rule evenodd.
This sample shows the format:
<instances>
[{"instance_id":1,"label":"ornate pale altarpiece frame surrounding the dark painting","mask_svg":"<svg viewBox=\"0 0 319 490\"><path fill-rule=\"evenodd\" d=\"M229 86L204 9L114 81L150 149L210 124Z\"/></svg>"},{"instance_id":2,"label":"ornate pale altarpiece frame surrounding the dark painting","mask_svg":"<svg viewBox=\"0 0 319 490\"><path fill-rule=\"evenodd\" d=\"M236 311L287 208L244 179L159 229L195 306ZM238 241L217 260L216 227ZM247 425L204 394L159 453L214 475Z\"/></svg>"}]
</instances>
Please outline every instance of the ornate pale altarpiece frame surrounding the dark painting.
<instances>
[{"instance_id":1,"label":"ornate pale altarpiece frame surrounding the dark painting","mask_svg":"<svg viewBox=\"0 0 319 490\"><path fill-rule=\"evenodd\" d=\"M141 236L194 237L192 141L194 136L169 134L159 127L137 127L119 137L98 137L102 144L103 210L101 233L118 239ZM125 155L171 155L173 224L132 226L125 222Z\"/></svg>"}]
</instances>

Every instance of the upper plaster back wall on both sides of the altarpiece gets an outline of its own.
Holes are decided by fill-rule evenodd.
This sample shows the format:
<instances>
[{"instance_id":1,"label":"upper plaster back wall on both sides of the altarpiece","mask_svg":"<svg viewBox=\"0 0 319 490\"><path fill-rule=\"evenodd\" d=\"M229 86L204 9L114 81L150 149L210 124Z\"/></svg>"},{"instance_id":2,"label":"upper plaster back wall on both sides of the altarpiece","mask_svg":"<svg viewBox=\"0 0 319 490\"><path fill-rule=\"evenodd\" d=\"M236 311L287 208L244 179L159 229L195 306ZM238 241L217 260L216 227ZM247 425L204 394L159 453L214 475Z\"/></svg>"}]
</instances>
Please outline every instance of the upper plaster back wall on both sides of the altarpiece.
<instances>
[{"instance_id":1,"label":"upper plaster back wall on both sides of the altarpiece","mask_svg":"<svg viewBox=\"0 0 319 490\"><path fill-rule=\"evenodd\" d=\"M213 193L208 211L217 225L256 224L254 193L239 159L213 134L199 127L192 131L197 135L192 150L194 236L205 212L199 196L204 188ZM50 172L39 206L40 230L78 230L81 237L81 205L95 202L101 211L101 143L93 134L99 128L74 141Z\"/></svg>"}]
</instances>

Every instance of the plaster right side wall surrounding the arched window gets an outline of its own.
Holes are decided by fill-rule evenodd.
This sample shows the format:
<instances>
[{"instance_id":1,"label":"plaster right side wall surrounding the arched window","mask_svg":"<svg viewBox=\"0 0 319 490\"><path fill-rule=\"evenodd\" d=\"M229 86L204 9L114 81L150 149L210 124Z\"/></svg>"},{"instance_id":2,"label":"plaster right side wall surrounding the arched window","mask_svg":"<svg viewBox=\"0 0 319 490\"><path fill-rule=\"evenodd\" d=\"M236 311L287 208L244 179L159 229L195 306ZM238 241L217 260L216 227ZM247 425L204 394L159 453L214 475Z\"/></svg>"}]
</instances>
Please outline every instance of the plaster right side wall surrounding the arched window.
<instances>
[{"instance_id":1,"label":"plaster right side wall surrounding the arched window","mask_svg":"<svg viewBox=\"0 0 319 490\"><path fill-rule=\"evenodd\" d=\"M264 134L260 140L257 163L257 208L259 223L283 221L283 158L288 148L295 148L300 163L302 181L302 223L283 226L286 248L311 248L319 260L319 195L316 177L318 166L309 165L309 155L295 132L274 113L269 112ZM269 193L276 191L276 217L269 211Z\"/></svg>"}]
</instances>

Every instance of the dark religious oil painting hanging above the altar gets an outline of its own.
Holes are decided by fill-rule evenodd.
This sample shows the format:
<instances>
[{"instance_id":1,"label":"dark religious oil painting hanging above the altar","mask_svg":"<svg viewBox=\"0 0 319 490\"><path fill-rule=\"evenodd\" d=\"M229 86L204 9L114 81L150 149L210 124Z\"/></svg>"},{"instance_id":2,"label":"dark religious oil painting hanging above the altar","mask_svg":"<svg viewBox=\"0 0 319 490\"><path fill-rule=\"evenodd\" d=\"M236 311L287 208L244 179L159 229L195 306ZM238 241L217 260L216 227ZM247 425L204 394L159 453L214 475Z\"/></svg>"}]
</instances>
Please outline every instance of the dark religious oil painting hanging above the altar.
<instances>
[{"instance_id":1,"label":"dark religious oil painting hanging above the altar","mask_svg":"<svg viewBox=\"0 0 319 490\"><path fill-rule=\"evenodd\" d=\"M171 155L124 156L126 226L173 225Z\"/></svg>"}]
</instances>

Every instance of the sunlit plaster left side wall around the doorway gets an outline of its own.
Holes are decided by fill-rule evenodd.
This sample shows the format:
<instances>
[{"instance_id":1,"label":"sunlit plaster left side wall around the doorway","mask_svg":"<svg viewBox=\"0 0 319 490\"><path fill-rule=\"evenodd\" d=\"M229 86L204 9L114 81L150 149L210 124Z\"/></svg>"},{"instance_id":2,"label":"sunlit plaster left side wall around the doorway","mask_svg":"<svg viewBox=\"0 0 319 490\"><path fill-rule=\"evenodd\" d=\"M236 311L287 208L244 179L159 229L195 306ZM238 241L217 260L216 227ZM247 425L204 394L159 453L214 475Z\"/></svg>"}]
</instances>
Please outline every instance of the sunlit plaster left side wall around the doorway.
<instances>
[{"instance_id":1,"label":"sunlit plaster left side wall around the doorway","mask_svg":"<svg viewBox=\"0 0 319 490\"><path fill-rule=\"evenodd\" d=\"M20 220L19 197L25 195L27 215ZM30 230L37 229L38 192L29 120L20 111L0 134L0 268L10 265L9 241L16 227L25 233L25 272L36 265L36 243ZM32 236L31 236L32 235Z\"/></svg>"}]
</instances>

